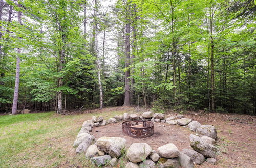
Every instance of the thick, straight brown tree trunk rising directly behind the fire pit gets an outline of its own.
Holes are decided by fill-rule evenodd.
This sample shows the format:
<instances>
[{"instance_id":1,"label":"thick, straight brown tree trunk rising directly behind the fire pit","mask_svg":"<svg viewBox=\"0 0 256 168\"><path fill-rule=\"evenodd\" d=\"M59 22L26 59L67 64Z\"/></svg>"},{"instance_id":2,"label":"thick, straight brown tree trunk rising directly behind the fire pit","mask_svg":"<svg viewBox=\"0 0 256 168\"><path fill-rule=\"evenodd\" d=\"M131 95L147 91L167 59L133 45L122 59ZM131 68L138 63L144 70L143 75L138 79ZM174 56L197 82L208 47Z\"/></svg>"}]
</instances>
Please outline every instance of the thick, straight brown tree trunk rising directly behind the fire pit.
<instances>
[{"instance_id":1,"label":"thick, straight brown tree trunk rising directly behind the fire pit","mask_svg":"<svg viewBox=\"0 0 256 168\"><path fill-rule=\"evenodd\" d=\"M128 69L130 65L130 22L131 20L128 18L130 16L130 5L128 5L127 10L126 10L126 24L125 24L125 76L124 76L124 103L123 106L131 106L131 101L130 101L130 69Z\"/></svg>"}]
</instances>

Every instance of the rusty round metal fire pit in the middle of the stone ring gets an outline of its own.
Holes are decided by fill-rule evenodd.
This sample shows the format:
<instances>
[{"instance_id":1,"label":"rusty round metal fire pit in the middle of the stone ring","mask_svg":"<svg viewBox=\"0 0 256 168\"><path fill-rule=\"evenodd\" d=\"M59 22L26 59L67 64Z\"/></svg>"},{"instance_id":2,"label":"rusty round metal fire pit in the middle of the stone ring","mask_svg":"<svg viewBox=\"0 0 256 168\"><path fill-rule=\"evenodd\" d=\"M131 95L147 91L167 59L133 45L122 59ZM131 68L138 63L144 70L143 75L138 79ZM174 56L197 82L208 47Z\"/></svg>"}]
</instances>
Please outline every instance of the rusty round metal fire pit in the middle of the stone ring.
<instances>
[{"instance_id":1,"label":"rusty round metal fire pit in the middle of the stone ring","mask_svg":"<svg viewBox=\"0 0 256 168\"><path fill-rule=\"evenodd\" d=\"M143 120L124 121L122 129L124 134L134 138L144 138L154 134L154 124Z\"/></svg>"}]
</instances>

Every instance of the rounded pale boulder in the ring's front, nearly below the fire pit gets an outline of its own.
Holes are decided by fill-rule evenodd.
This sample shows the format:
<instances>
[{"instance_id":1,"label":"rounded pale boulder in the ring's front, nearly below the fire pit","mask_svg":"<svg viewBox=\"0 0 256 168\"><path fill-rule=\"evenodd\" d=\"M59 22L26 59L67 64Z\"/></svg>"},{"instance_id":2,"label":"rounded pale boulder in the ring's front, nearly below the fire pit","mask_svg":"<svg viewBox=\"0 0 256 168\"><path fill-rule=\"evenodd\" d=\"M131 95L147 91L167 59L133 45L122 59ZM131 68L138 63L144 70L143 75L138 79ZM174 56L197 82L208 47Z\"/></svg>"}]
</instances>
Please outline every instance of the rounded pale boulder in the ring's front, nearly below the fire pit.
<instances>
[{"instance_id":1,"label":"rounded pale boulder in the ring's front, nearly below the fire pit","mask_svg":"<svg viewBox=\"0 0 256 168\"><path fill-rule=\"evenodd\" d=\"M133 163L139 163L151 154L152 148L146 143L133 143L127 150L127 158Z\"/></svg>"}]
</instances>

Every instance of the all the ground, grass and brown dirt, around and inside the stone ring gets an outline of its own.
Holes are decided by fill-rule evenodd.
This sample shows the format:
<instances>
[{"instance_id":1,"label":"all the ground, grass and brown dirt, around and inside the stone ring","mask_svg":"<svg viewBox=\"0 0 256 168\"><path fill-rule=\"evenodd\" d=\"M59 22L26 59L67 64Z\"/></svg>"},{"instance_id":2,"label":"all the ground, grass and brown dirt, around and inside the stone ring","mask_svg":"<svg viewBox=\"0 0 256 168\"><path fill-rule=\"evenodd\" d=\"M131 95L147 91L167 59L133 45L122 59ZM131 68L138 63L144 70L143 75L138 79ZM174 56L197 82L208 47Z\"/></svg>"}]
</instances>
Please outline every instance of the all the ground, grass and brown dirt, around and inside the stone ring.
<instances>
[{"instance_id":1,"label":"all the ground, grass and brown dirt, around and inside the stone ring","mask_svg":"<svg viewBox=\"0 0 256 168\"><path fill-rule=\"evenodd\" d=\"M113 107L70 115L57 115L53 112L2 115L0 116L0 167L92 167L83 155L75 154L75 148L72 147L83 121L93 115L100 114L104 118L110 118L136 111L137 109L133 107ZM174 114L170 112L167 115ZM196 167L256 167L255 116L202 113L185 114L185 117L197 120L201 124L214 125L218 132L218 164L210 165L204 162ZM110 124L109 130L117 125L120 123ZM100 132L96 132L97 129L101 129ZM106 130L106 127L95 128L92 134L97 138L105 132L102 131L104 129ZM163 132L160 132L162 130ZM116 130L119 132L117 135L123 136L120 131ZM179 150L189 146L187 136L190 131L187 128L157 123L155 133L151 140L147 141L151 144L152 139L157 139L157 143L152 145L153 149L166 142L174 143ZM125 138L129 144L132 143L132 139Z\"/></svg>"}]
</instances>

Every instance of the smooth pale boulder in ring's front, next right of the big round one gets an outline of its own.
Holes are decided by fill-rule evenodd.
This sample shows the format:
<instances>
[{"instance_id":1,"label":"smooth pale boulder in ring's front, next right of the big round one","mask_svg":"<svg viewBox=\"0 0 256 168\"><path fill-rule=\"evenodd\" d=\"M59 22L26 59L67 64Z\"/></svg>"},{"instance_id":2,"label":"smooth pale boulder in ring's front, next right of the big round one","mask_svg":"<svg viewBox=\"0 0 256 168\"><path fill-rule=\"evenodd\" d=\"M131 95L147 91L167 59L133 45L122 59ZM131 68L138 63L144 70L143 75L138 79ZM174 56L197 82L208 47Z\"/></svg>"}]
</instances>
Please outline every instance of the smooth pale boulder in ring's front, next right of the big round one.
<instances>
[{"instance_id":1,"label":"smooth pale boulder in ring's front, next right of the big round one","mask_svg":"<svg viewBox=\"0 0 256 168\"><path fill-rule=\"evenodd\" d=\"M178 148L172 143L158 147L157 153L164 158L175 158L180 155Z\"/></svg>"}]
</instances>

